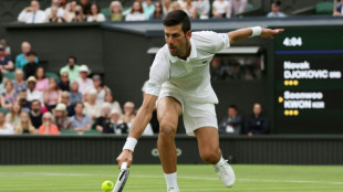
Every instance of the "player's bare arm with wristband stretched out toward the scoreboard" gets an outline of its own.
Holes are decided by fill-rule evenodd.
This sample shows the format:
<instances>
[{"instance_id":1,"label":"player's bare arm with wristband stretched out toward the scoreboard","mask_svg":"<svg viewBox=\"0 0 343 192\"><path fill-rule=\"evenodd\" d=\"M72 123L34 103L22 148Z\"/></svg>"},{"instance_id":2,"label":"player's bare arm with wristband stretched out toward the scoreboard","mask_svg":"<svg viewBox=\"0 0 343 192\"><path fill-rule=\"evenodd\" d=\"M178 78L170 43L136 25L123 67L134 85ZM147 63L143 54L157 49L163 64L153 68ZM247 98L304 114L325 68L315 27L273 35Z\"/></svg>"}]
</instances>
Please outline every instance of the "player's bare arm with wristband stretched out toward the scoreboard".
<instances>
[{"instance_id":1,"label":"player's bare arm with wristband stretched out toward the scoreboard","mask_svg":"<svg viewBox=\"0 0 343 192\"><path fill-rule=\"evenodd\" d=\"M246 40L251 36L261 36L261 38L268 38L268 39L274 39L273 35L282 33L284 30L283 29L264 29L260 26L254 26L254 28L246 28L246 29L240 29L236 31L231 31L228 33L230 44L237 43L239 41Z\"/></svg>"}]
</instances>

